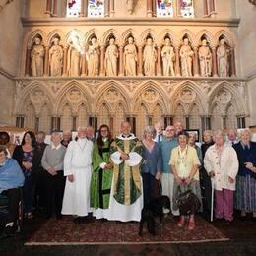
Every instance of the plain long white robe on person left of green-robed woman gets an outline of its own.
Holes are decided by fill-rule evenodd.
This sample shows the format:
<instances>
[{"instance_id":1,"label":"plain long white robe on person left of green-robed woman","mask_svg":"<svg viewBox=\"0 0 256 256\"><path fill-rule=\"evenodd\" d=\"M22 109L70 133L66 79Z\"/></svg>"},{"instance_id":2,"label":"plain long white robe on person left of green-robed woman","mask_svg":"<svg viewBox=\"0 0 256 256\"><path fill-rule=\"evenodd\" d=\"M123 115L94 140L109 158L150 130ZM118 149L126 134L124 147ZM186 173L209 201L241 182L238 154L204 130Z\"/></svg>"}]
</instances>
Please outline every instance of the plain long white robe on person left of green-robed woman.
<instances>
[{"instance_id":1,"label":"plain long white robe on person left of green-robed woman","mask_svg":"<svg viewBox=\"0 0 256 256\"><path fill-rule=\"evenodd\" d=\"M64 175L74 176L66 180L62 211L63 215L87 216L90 208L90 184L92 176L93 142L78 139L69 143L64 158Z\"/></svg>"}]
</instances>

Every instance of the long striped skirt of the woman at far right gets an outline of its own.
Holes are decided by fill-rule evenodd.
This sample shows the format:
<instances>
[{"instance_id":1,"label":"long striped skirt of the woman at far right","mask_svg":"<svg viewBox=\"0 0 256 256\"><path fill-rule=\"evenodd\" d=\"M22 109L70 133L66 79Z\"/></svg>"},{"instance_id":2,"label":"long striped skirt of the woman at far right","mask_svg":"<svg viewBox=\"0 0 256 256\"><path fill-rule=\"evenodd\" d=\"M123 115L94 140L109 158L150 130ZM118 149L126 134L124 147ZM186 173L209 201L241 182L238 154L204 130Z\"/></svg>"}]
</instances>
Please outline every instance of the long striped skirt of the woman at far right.
<instances>
[{"instance_id":1,"label":"long striped skirt of the woman at far right","mask_svg":"<svg viewBox=\"0 0 256 256\"><path fill-rule=\"evenodd\" d=\"M249 175L236 177L234 208L247 213L256 211L256 179Z\"/></svg>"}]
</instances>

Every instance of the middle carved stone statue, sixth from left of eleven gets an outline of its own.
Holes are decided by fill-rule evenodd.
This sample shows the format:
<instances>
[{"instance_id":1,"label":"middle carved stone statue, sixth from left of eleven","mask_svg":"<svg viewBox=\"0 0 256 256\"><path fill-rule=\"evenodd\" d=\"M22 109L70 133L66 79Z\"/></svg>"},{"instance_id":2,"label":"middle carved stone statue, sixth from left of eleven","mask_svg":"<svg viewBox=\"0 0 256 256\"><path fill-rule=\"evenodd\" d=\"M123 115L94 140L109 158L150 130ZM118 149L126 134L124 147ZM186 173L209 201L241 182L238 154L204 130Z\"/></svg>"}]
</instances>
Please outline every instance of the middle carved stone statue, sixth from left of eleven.
<instances>
[{"instance_id":1,"label":"middle carved stone statue, sixth from left of eleven","mask_svg":"<svg viewBox=\"0 0 256 256\"><path fill-rule=\"evenodd\" d=\"M137 49L133 37L128 38L128 44L124 47L124 70L126 76L136 76Z\"/></svg>"}]
</instances>

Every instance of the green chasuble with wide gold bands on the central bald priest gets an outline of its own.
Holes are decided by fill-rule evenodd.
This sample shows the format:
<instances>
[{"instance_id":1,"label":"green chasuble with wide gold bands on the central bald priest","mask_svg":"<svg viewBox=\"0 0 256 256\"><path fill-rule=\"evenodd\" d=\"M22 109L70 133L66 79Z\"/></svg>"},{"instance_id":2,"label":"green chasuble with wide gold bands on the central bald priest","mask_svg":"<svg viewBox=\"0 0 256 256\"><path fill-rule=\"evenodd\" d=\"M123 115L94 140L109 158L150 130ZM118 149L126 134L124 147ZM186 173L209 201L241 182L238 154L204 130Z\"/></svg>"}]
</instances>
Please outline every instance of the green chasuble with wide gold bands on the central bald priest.
<instances>
[{"instance_id":1,"label":"green chasuble with wide gold bands on the central bald priest","mask_svg":"<svg viewBox=\"0 0 256 256\"><path fill-rule=\"evenodd\" d=\"M110 154L126 153L132 159L132 153L141 156L142 144L137 138L115 138L111 143ZM114 164L113 169L113 197L122 205L133 204L142 194L140 164L130 166L129 160Z\"/></svg>"}]
</instances>

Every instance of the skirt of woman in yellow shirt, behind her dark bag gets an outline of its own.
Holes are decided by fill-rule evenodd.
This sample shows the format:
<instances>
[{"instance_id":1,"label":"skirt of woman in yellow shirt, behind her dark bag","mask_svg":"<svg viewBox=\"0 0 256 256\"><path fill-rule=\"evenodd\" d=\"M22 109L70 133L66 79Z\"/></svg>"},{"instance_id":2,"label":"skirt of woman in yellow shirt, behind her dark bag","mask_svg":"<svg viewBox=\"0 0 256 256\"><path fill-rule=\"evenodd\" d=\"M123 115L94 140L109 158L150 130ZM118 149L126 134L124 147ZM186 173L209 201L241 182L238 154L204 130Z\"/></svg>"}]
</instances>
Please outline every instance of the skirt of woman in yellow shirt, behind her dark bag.
<instances>
[{"instance_id":1,"label":"skirt of woman in yellow shirt, behind her dark bag","mask_svg":"<svg viewBox=\"0 0 256 256\"><path fill-rule=\"evenodd\" d=\"M173 210L178 210L178 206L177 206L177 198L179 196L180 193L185 192L186 190L190 189L199 199L200 203L201 203L201 207L199 212L203 211L203 206L202 206L202 196L201 196L201 188L200 188L200 183L199 181L192 179L190 184L187 185L181 185L180 189L179 186L176 182L176 180L174 179L174 185L173 185L173 199L172 199L172 208Z\"/></svg>"}]
</instances>

